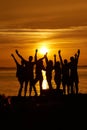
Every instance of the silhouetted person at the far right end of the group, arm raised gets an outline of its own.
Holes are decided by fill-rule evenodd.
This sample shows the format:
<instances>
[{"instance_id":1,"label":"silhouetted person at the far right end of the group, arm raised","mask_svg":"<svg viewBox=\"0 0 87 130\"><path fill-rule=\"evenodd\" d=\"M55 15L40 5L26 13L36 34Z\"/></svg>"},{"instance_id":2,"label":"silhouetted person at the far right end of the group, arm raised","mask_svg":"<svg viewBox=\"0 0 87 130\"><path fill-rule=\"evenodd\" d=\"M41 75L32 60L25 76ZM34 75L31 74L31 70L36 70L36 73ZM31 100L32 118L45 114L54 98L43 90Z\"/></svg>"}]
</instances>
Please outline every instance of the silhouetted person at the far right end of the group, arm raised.
<instances>
[{"instance_id":1,"label":"silhouetted person at the far right end of the group, arm raised","mask_svg":"<svg viewBox=\"0 0 87 130\"><path fill-rule=\"evenodd\" d=\"M69 68L70 68L70 86L71 86L71 93L72 94L74 92L74 85L75 85L76 94L78 94L79 78L78 78L77 67L78 67L79 56L80 56L80 50L78 49L75 56L70 57Z\"/></svg>"}]
</instances>

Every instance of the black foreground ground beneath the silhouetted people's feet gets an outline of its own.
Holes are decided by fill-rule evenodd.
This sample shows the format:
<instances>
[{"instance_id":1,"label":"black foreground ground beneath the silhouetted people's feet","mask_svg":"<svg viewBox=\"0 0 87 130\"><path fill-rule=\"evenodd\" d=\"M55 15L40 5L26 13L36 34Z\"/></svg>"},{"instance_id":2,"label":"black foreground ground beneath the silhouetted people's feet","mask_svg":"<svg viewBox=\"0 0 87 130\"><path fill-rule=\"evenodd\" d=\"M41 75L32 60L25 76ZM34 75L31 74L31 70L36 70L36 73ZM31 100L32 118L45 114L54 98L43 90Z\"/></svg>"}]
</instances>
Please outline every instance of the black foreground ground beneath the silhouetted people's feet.
<instances>
[{"instance_id":1,"label":"black foreground ground beneath the silhouetted people's feet","mask_svg":"<svg viewBox=\"0 0 87 130\"><path fill-rule=\"evenodd\" d=\"M0 97L0 129L87 129L87 94Z\"/></svg>"}]
</instances>

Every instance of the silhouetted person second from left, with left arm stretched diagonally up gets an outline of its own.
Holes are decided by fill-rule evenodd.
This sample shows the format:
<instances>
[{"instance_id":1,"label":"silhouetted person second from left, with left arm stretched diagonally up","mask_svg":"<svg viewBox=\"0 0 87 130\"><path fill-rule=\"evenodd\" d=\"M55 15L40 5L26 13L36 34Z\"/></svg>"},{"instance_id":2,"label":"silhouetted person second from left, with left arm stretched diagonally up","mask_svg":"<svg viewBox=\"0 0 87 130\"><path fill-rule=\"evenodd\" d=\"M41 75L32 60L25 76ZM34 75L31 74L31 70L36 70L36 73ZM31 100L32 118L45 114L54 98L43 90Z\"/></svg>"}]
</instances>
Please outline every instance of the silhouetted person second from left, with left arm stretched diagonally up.
<instances>
[{"instance_id":1,"label":"silhouetted person second from left, with left arm stretched diagonally up","mask_svg":"<svg viewBox=\"0 0 87 130\"><path fill-rule=\"evenodd\" d=\"M22 61L24 62L25 68L26 68L24 96L26 96L26 93L27 93L28 83L30 83L29 95L31 96L31 91L32 91L32 88L33 88L35 95L37 96L36 88L35 88L35 85L34 85L34 72L33 72L33 70L34 70L35 62L32 62L33 57L29 56L29 60L27 61L18 53L17 50L16 50L16 53L22 59Z\"/></svg>"}]
</instances>

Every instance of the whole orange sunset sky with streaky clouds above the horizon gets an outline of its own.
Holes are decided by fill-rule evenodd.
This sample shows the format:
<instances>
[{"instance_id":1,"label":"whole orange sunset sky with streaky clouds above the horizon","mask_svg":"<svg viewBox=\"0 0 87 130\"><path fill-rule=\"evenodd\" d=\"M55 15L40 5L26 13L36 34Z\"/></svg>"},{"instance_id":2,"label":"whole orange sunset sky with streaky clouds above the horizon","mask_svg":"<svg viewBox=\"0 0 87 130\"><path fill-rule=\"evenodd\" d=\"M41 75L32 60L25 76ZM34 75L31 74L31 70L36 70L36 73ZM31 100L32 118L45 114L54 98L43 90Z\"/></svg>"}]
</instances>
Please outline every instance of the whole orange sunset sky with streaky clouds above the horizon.
<instances>
[{"instance_id":1,"label":"whole orange sunset sky with streaky clouds above the horizon","mask_svg":"<svg viewBox=\"0 0 87 130\"><path fill-rule=\"evenodd\" d=\"M87 0L0 0L0 67L15 66L15 49L28 59L42 47L68 60L80 49L87 65Z\"/></svg>"}]
</instances>

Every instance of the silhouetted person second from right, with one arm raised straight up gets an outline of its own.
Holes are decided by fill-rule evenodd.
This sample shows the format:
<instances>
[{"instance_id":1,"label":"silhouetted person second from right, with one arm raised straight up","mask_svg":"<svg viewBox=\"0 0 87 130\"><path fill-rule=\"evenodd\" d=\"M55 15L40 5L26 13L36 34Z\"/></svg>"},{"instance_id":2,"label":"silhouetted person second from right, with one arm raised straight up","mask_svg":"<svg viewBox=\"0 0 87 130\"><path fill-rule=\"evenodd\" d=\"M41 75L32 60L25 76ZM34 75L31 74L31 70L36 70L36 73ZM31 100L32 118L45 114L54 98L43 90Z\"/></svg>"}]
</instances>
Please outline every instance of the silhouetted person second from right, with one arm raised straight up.
<instances>
[{"instance_id":1,"label":"silhouetted person second from right, with one arm raised straight up","mask_svg":"<svg viewBox=\"0 0 87 130\"><path fill-rule=\"evenodd\" d=\"M62 60L61 51L58 51L58 55L60 58L61 66L62 66L62 86L63 86L63 93L66 94L66 87L67 93L69 94L70 86L69 86L69 63L67 59Z\"/></svg>"}]
</instances>

